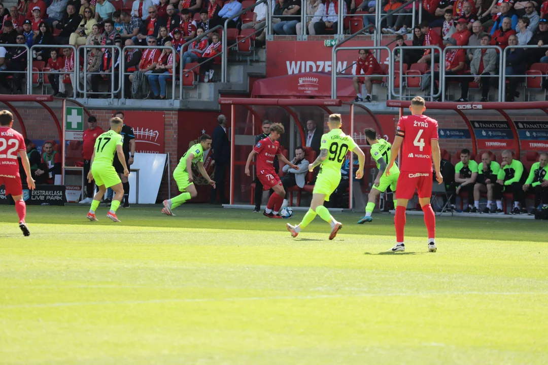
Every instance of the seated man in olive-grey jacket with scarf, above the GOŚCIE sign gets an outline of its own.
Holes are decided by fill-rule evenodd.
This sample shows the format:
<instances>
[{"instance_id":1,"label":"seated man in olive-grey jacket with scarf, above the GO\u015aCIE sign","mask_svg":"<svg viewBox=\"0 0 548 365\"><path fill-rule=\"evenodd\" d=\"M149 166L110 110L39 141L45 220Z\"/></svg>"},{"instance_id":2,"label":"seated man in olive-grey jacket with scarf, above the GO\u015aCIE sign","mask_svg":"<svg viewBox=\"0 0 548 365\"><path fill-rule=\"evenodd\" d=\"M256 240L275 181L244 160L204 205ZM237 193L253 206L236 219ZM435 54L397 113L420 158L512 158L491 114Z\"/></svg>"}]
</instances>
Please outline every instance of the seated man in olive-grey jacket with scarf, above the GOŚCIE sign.
<instances>
[{"instance_id":1,"label":"seated man in olive-grey jacket with scarf, above the GO\u015aCIE sign","mask_svg":"<svg viewBox=\"0 0 548 365\"><path fill-rule=\"evenodd\" d=\"M485 33L481 39L481 45L486 47L491 41L491 36ZM462 78L460 82L461 99L457 102L468 101L468 90L471 81L481 84L481 101L486 102L489 95L490 75L496 74L496 51L493 48L476 48L473 59L470 62L470 74L473 78ZM480 77L482 76L482 77Z\"/></svg>"}]
</instances>

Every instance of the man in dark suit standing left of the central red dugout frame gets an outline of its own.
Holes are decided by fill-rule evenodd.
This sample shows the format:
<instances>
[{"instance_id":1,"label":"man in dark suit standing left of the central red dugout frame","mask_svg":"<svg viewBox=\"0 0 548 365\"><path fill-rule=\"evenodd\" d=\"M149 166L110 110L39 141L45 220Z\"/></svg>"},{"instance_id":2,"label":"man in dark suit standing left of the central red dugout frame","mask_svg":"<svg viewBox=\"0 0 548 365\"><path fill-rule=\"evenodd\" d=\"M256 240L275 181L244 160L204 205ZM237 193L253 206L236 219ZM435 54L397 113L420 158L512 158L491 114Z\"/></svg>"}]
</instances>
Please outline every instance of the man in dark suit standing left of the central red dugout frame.
<instances>
[{"instance_id":1,"label":"man in dark suit standing left of the central red dugout frame","mask_svg":"<svg viewBox=\"0 0 548 365\"><path fill-rule=\"evenodd\" d=\"M221 204L228 204L229 201L225 197L225 172L226 165L230 162L230 142L226 130L228 121L226 117L221 114L217 117L217 123L219 123L219 125L213 130L213 141L211 145L213 148L213 161L215 161L215 173L213 176L215 188L211 189L209 204L215 204L217 192L219 192Z\"/></svg>"}]
</instances>

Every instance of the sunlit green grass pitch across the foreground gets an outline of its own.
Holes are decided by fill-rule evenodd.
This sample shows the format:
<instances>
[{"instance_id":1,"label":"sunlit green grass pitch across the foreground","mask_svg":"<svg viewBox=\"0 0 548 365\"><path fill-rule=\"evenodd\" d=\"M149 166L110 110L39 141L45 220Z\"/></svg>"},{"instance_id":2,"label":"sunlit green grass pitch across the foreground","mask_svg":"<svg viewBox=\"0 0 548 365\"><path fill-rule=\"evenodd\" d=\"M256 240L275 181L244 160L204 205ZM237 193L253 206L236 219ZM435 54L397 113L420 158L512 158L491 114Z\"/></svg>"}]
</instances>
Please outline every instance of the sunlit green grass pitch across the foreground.
<instances>
[{"instance_id":1,"label":"sunlit green grass pitch across the foreground","mask_svg":"<svg viewBox=\"0 0 548 365\"><path fill-rule=\"evenodd\" d=\"M0 206L0 364L546 364L546 223Z\"/></svg>"}]
</instances>

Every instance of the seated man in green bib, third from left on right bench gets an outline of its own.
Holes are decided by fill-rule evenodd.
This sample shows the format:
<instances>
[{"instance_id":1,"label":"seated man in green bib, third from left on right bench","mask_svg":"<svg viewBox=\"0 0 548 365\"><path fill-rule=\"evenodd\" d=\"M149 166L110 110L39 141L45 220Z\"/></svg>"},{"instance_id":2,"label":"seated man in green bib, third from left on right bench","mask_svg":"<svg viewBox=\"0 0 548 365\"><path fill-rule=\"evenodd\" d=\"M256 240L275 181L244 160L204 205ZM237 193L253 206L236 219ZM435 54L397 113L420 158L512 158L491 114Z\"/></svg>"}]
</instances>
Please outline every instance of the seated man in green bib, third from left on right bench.
<instances>
[{"instance_id":1,"label":"seated man in green bib, third from left on right bench","mask_svg":"<svg viewBox=\"0 0 548 365\"><path fill-rule=\"evenodd\" d=\"M495 197L498 201L502 199L503 192L513 195L514 208L512 214L527 213L525 208L525 193L523 185L527 179L527 172L524 173L523 164L513 159L509 150L503 151L503 163L496 179ZM521 207L521 208L520 208ZM501 213L502 211L498 211Z\"/></svg>"}]
</instances>

